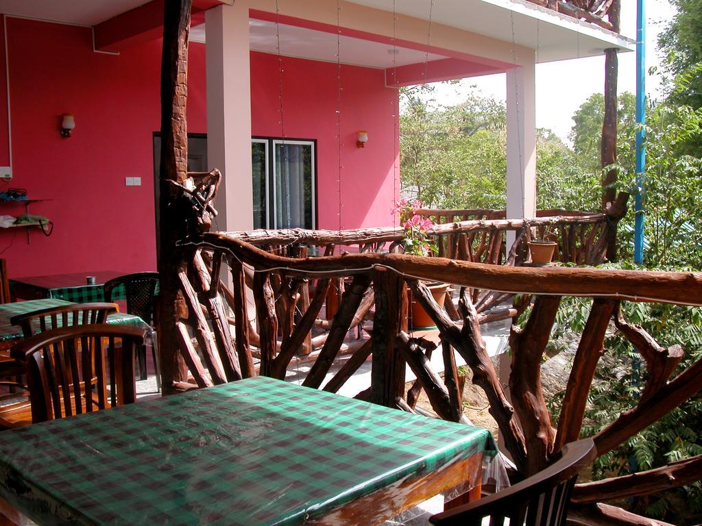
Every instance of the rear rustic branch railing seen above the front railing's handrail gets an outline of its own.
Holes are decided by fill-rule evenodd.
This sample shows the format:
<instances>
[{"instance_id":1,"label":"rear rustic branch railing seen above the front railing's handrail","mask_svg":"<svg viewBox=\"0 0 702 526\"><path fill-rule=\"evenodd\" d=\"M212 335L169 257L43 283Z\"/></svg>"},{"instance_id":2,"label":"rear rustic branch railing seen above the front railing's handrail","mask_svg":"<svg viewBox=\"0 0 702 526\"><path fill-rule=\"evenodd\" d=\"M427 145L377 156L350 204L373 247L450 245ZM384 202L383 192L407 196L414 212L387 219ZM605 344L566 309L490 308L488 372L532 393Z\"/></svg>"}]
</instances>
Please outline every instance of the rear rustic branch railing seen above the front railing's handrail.
<instances>
[{"instance_id":1,"label":"rear rustic branch railing seen above the front railing's handrail","mask_svg":"<svg viewBox=\"0 0 702 526\"><path fill-rule=\"evenodd\" d=\"M505 220L504 210L418 210L430 217L435 227L430 231L439 257L475 263L503 264L510 251L515 262L527 259L527 242L531 238L558 243L555 261L576 264L600 264L604 261L609 228L607 215L540 210L536 219ZM506 233L516 232L517 245L505 250ZM312 255L336 252L402 253L404 233L401 227L331 230L253 230L225 232L252 245L278 254L291 255L291 247L305 245Z\"/></svg>"}]
</instances>

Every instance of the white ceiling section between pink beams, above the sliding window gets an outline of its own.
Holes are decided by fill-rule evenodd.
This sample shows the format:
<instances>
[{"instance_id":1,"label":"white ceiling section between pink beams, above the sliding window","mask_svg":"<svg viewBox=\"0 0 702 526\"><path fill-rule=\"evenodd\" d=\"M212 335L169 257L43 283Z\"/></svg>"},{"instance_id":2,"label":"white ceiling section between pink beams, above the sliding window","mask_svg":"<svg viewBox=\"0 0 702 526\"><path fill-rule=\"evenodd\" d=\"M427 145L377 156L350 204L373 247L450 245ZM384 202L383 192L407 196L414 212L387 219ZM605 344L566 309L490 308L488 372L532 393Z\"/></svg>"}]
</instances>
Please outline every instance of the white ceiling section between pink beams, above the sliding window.
<instances>
[{"instance_id":1,"label":"white ceiling section between pink beams, above the sliding window","mask_svg":"<svg viewBox=\"0 0 702 526\"><path fill-rule=\"evenodd\" d=\"M389 44L355 39L351 36L339 36L337 42L337 35L333 33L285 24L276 27L275 22L264 20L249 20L249 32L252 50L278 53L279 38L280 53L287 57L336 62L338 48L338 60L343 64L381 69L446 58L443 55L400 47L395 48L397 53L392 53L393 48ZM204 24L190 30L190 39L204 42Z\"/></svg>"}]
</instances>

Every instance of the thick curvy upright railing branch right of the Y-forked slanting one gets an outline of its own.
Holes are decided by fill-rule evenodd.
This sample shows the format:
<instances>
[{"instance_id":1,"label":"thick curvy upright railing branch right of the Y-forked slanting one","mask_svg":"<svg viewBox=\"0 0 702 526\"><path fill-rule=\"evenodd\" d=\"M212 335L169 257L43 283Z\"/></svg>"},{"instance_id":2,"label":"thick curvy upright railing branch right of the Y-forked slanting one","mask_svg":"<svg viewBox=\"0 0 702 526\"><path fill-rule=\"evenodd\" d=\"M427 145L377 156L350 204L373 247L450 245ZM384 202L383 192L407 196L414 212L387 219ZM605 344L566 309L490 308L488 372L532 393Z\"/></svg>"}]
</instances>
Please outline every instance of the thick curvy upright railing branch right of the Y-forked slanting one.
<instances>
[{"instance_id":1,"label":"thick curvy upright railing branch right of the Y-forked slanting one","mask_svg":"<svg viewBox=\"0 0 702 526\"><path fill-rule=\"evenodd\" d=\"M541 387L541 359L548 344L560 297L538 296L524 330L512 326L510 393L527 446L527 475L548 465L554 431Z\"/></svg>"}]
</instances>

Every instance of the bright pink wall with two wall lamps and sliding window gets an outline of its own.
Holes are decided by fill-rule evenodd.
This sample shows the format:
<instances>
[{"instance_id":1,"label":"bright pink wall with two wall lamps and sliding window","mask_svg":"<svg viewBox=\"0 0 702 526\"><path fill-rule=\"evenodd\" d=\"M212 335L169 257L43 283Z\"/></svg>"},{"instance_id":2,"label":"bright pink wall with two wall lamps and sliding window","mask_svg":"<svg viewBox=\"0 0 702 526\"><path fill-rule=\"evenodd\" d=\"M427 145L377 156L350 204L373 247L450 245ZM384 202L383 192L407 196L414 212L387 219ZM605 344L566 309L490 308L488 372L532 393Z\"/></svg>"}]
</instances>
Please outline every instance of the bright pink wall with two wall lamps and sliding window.
<instances>
[{"instance_id":1,"label":"bright pink wall with two wall lamps and sliding window","mask_svg":"<svg viewBox=\"0 0 702 526\"><path fill-rule=\"evenodd\" d=\"M91 30L84 27L15 18L7 25L14 179L0 190L22 187L30 197L53 199L30 212L55 224L49 238L32 230L29 245L24 229L0 229L0 257L8 259L10 275L154 269L152 133L160 126L161 42L107 55L93 52ZM333 228L339 202L336 65L285 62L285 132L317 139L319 227ZM204 45L190 46L189 67L188 128L206 133ZM251 69L253 134L279 136L277 58L252 53ZM391 224L397 91L384 87L376 69L344 66L342 84L342 226ZM0 165L3 86L0 73ZM63 139L60 116L68 112L76 129ZM355 144L360 129L369 130L365 149ZM126 187L125 177L141 177L142 186ZM23 211L20 205L0 209Z\"/></svg>"}]
</instances>

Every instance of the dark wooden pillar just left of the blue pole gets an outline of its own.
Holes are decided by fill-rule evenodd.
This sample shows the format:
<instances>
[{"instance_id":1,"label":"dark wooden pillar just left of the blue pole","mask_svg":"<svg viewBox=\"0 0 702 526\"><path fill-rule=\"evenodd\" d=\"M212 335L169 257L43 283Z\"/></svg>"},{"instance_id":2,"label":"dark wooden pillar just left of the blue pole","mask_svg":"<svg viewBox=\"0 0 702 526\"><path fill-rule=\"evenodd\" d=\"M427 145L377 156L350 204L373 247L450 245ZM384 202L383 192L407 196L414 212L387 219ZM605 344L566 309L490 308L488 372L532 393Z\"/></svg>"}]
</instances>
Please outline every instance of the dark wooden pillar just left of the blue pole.
<instances>
[{"instance_id":1,"label":"dark wooden pillar just left of the blue pole","mask_svg":"<svg viewBox=\"0 0 702 526\"><path fill-rule=\"evenodd\" d=\"M616 83L618 60L616 48L604 50L604 122L602 123L602 143L600 162L602 168L616 163L617 97ZM617 179L616 170L608 170L602 177L602 210L607 213L614 206ZM607 229L607 259L616 259L616 223Z\"/></svg>"}]
</instances>

